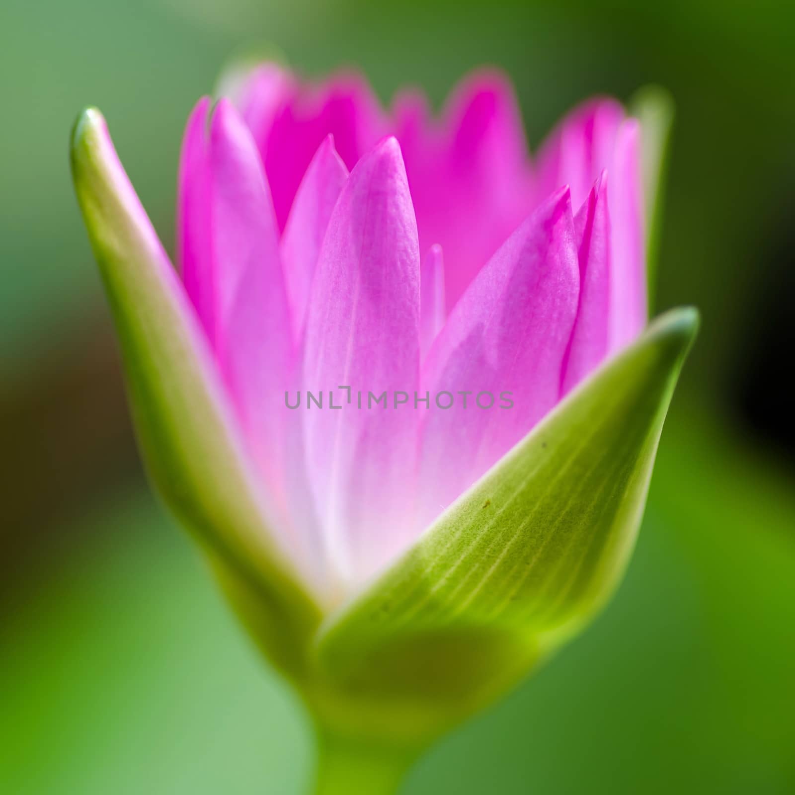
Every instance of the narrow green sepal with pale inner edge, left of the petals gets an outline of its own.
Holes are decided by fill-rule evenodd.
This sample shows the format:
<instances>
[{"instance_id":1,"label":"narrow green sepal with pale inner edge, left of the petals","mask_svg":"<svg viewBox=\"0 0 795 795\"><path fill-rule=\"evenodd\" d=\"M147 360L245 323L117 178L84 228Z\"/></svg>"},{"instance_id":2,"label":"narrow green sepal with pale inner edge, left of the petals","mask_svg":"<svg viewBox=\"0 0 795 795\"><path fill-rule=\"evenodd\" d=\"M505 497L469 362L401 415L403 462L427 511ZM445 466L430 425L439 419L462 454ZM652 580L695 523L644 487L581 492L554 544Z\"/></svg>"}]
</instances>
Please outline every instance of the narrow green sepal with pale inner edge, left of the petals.
<instances>
[{"instance_id":1,"label":"narrow green sepal with pale inner edge, left of the petals","mask_svg":"<svg viewBox=\"0 0 795 795\"><path fill-rule=\"evenodd\" d=\"M320 611L270 533L204 335L95 109L76 122L72 174L149 475L270 657L295 674Z\"/></svg>"}]
</instances>

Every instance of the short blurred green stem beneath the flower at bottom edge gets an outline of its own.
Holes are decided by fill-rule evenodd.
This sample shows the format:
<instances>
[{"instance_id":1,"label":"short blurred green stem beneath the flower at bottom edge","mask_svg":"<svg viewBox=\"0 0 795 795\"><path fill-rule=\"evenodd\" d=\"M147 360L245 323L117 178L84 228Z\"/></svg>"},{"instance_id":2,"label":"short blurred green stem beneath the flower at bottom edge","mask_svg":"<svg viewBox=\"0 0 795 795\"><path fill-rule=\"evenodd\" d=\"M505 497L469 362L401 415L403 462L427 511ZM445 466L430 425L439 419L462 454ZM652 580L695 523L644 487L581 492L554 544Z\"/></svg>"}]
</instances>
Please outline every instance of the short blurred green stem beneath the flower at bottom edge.
<instances>
[{"instance_id":1,"label":"short blurred green stem beneath the flower at bottom edge","mask_svg":"<svg viewBox=\"0 0 795 795\"><path fill-rule=\"evenodd\" d=\"M320 729L314 795L393 795L415 754Z\"/></svg>"}]
</instances>

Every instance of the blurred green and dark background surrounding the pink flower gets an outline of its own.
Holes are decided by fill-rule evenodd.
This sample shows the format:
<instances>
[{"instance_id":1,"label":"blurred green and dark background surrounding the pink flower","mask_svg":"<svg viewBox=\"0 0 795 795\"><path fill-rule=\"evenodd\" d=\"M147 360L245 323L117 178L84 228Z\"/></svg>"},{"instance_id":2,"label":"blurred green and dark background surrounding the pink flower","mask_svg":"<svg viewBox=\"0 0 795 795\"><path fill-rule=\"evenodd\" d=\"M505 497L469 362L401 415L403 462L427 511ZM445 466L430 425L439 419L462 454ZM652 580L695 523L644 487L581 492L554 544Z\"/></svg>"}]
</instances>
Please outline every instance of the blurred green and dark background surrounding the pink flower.
<instances>
[{"instance_id":1,"label":"blurred green and dark background surrounding the pink flower","mask_svg":"<svg viewBox=\"0 0 795 795\"><path fill-rule=\"evenodd\" d=\"M536 147L580 99L677 105L657 308L700 339L611 606L432 750L406 793L795 792L795 6L3 0L0 792L300 793L312 745L145 486L68 175L102 108L173 242L180 135L241 46L440 103L514 80Z\"/></svg>"}]
</instances>

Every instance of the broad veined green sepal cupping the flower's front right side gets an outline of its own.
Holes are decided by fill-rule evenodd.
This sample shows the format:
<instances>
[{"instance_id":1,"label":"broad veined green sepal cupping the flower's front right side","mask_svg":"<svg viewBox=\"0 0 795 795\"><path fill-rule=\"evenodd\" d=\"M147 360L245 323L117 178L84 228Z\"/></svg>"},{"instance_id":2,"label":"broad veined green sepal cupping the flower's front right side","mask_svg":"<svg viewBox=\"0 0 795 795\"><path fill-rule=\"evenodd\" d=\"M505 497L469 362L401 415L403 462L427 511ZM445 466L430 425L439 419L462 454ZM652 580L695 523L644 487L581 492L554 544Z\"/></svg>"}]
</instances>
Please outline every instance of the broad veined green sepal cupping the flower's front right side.
<instances>
[{"instance_id":1,"label":"broad veined green sepal cupping the flower's front right side","mask_svg":"<svg viewBox=\"0 0 795 795\"><path fill-rule=\"evenodd\" d=\"M688 308L653 323L321 627L319 665L361 705L361 731L381 715L394 742L432 738L603 605L633 548L696 326Z\"/></svg>"}]
</instances>

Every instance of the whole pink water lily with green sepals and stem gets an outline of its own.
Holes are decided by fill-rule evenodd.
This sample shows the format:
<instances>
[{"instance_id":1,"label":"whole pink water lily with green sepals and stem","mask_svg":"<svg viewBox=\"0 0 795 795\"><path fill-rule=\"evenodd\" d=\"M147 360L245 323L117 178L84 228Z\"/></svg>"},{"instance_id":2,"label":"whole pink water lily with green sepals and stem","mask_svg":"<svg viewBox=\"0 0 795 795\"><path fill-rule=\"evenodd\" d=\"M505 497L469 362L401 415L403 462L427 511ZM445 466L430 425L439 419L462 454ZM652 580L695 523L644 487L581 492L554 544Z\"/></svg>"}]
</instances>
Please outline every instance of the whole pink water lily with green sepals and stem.
<instances>
[{"instance_id":1,"label":"whole pink water lily with green sepals and stem","mask_svg":"<svg viewBox=\"0 0 795 795\"><path fill-rule=\"evenodd\" d=\"M660 129L595 99L531 159L498 74L435 118L262 64L188 120L175 269L76 122L145 463L319 791L389 791L615 590L697 323L646 323Z\"/></svg>"}]
</instances>

